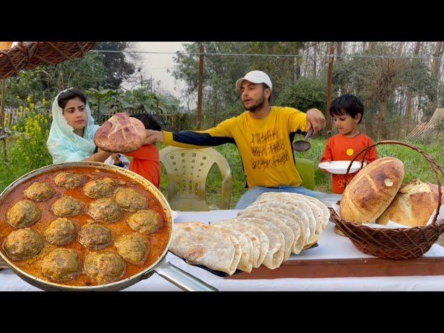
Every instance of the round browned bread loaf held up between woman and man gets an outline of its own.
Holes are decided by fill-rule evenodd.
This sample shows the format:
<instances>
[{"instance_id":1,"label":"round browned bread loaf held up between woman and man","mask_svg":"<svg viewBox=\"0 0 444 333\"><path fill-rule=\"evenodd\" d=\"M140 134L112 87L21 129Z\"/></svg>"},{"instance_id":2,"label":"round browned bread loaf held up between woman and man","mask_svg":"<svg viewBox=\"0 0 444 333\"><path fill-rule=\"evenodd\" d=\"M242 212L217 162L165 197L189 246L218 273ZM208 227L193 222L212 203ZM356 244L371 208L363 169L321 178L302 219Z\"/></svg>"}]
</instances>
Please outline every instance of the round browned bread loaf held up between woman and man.
<instances>
[{"instance_id":1,"label":"round browned bread loaf held up between woman and man","mask_svg":"<svg viewBox=\"0 0 444 333\"><path fill-rule=\"evenodd\" d=\"M126 113L114 114L94 135L96 146L103 151L130 153L144 144L145 126L139 119Z\"/></svg>"}]
</instances>

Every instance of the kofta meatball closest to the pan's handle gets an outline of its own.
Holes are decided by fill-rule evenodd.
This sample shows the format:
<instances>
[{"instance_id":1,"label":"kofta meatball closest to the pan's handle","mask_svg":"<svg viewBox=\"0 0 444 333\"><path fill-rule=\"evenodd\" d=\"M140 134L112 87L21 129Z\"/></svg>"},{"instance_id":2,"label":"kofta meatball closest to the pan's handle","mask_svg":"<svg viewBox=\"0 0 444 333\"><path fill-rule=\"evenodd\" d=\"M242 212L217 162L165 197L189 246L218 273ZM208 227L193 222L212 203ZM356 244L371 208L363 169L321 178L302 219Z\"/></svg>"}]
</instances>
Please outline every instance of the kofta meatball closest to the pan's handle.
<instances>
[{"instance_id":1,"label":"kofta meatball closest to the pan's handle","mask_svg":"<svg viewBox=\"0 0 444 333\"><path fill-rule=\"evenodd\" d=\"M142 265L150 252L148 241L141 234L123 234L114 242L119 255L127 262L135 265Z\"/></svg>"}]
</instances>

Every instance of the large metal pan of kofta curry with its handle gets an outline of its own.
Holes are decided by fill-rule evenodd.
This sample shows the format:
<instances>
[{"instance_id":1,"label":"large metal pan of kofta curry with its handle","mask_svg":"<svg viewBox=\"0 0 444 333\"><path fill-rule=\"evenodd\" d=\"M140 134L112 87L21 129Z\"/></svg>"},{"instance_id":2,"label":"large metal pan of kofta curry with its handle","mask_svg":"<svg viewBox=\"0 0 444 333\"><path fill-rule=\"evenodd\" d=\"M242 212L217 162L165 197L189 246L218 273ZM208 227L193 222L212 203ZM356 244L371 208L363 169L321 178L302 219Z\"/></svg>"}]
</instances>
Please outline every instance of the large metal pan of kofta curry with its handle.
<instances>
[{"instance_id":1,"label":"large metal pan of kofta curry with its handle","mask_svg":"<svg viewBox=\"0 0 444 333\"><path fill-rule=\"evenodd\" d=\"M1 258L43 290L117 291L157 273L182 290L216 291L164 259L172 229L159 189L109 164L52 164L0 194Z\"/></svg>"}]
</instances>

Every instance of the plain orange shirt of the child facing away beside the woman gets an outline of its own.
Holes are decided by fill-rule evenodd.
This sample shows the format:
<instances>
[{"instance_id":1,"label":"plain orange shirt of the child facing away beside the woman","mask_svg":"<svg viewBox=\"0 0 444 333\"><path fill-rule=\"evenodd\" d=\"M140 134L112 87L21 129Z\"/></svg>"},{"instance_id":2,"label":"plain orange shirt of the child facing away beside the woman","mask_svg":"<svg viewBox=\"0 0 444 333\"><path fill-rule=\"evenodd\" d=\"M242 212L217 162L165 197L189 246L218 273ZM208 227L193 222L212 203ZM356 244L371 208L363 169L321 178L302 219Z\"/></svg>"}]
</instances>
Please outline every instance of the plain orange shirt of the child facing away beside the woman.
<instances>
[{"instance_id":1,"label":"plain orange shirt of the child facing away beside the woman","mask_svg":"<svg viewBox=\"0 0 444 333\"><path fill-rule=\"evenodd\" d=\"M160 187L159 150L153 144L146 144L136 151L125 153L133 157L130 170L148 179L157 188Z\"/></svg>"}]
</instances>

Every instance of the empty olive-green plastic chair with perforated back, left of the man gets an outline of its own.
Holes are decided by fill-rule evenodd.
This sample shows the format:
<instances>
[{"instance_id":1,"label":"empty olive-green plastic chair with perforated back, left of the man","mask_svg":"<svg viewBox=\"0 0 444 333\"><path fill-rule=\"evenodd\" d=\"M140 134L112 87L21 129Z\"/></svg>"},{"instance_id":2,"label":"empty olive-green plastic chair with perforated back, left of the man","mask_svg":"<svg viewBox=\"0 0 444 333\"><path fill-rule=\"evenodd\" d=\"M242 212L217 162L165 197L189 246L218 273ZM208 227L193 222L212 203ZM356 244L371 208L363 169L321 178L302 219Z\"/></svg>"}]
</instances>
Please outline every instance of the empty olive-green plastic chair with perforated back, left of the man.
<instances>
[{"instance_id":1,"label":"empty olive-green plastic chair with perforated back, left of the man","mask_svg":"<svg viewBox=\"0 0 444 333\"><path fill-rule=\"evenodd\" d=\"M207 211L205 182L214 163L221 170L221 210L230 209L233 181L230 165L214 148L189 149L169 146L160 151L168 174L168 202L172 210Z\"/></svg>"}]
</instances>

